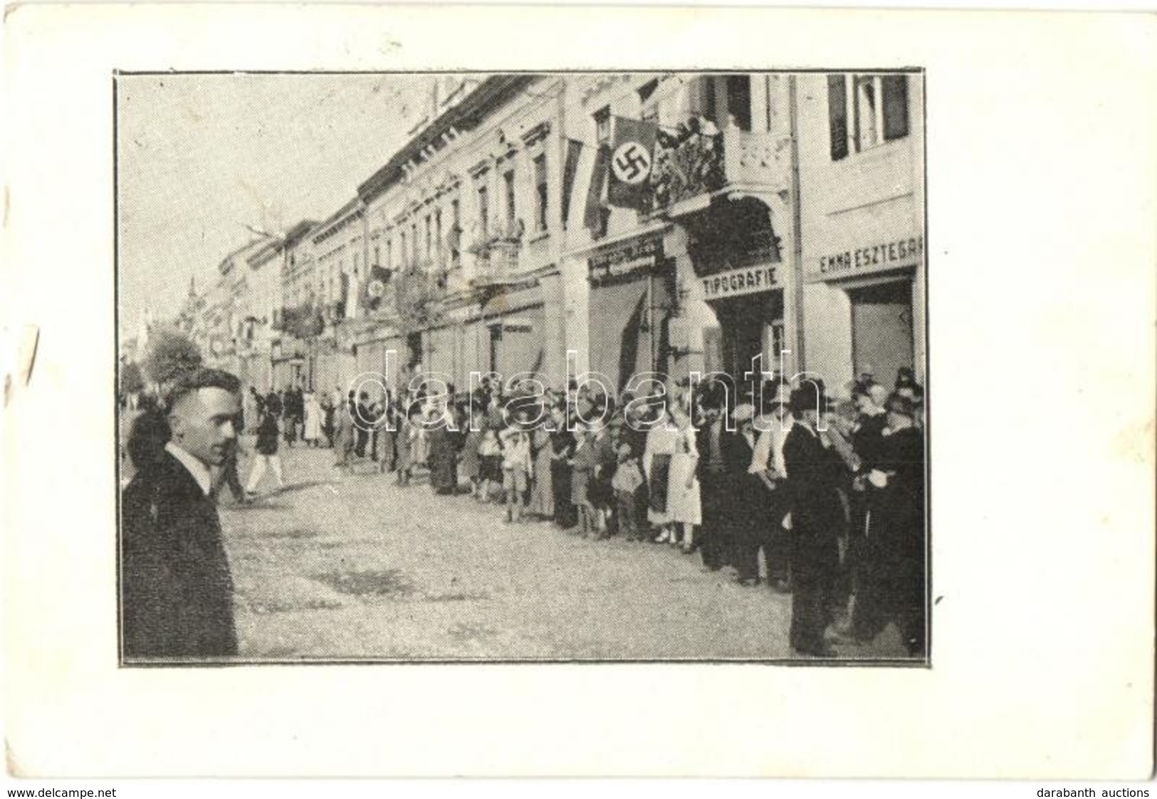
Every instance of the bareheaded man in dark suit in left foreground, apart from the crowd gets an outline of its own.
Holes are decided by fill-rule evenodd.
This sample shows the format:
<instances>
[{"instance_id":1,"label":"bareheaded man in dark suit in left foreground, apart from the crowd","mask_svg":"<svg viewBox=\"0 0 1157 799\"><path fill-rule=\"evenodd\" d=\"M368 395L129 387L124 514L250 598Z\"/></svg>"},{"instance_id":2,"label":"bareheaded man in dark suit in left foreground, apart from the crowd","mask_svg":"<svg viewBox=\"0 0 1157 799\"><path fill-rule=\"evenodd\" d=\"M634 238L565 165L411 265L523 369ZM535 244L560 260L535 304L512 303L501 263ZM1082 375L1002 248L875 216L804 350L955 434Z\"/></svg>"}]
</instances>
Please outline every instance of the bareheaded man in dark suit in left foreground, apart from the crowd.
<instances>
[{"instance_id":1,"label":"bareheaded man in dark suit in left foreground, apart from the crowd","mask_svg":"<svg viewBox=\"0 0 1157 799\"><path fill-rule=\"evenodd\" d=\"M237 653L233 579L211 468L236 446L241 386L219 369L177 379L170 437L121 494L121 633L126 660ZM163 446L163 448L162 448Z\"/></svg>"}]
</instances>

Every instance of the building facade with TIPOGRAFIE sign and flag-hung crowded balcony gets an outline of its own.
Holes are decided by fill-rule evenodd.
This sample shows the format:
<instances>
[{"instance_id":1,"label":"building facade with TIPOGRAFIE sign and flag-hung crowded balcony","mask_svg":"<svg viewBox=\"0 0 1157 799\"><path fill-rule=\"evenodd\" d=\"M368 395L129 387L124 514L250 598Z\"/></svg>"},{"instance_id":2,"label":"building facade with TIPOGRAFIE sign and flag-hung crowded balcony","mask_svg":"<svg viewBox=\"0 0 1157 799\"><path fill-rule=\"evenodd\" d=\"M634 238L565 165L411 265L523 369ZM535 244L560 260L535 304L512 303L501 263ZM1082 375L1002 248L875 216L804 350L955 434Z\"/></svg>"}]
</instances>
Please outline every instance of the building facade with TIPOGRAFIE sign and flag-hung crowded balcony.
<instances>
[{"instance_id":1,"label":"building facade with TIPOGRAFIE sign and flag-hung crowded balcony","mask_svg":"<svg viewBox=\"0 0 1157 799\"><path fill-rule=\"evenodd\" d=\"M574 342L580 362L612 391L647 371L742 379L795 335L787 86L781 75L699 73L574 82L566 313L585 322L574 325L587 331ZM624 207L613 182L629 178L616 170L631 160L622 131L639 123L646 145L656 138L643 147L650 174Z\"/></svg>"}]
</instances>

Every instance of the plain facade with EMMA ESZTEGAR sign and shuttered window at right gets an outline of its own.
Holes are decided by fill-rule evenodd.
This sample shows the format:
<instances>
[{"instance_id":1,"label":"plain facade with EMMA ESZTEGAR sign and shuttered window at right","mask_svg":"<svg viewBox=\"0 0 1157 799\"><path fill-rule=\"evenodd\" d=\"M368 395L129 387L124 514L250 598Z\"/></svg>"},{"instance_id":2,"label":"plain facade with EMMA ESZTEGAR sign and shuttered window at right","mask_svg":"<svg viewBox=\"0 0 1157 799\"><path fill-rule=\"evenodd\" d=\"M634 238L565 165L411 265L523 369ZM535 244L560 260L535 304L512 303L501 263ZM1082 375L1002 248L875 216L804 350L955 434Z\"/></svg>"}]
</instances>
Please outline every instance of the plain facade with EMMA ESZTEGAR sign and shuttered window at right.
<instances>
[{"instance_id":1,"label":"plain facade with EMMA ESZTEGAR sign and shuttered window at right","mask_svg":"<svg viewBox=\"0 0 1157 799\"><path fill-rule=\"evenodd\" d=\"M798 78L804 351L841 386L926 362L923 80Z\"/></svg>"}]
</instances>

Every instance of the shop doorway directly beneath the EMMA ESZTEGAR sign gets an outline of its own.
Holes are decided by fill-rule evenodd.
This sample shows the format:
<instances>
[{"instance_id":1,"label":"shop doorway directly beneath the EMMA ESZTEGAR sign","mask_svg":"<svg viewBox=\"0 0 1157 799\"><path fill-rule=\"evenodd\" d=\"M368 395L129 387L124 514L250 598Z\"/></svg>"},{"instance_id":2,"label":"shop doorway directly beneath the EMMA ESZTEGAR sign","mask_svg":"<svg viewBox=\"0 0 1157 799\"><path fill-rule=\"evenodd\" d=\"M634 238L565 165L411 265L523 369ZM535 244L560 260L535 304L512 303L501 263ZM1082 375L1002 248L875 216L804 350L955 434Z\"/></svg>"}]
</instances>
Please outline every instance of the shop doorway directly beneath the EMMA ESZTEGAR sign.
<instances>
[{"instance_id":1,"label":"shop doorway directly beneath the EMMA ESZTEGAR sign","mask_svg":"<svg viewBox=\"0 0 1157 799\"><path fill-rule=\"evenodd\" d=\"M892 386L896 371L913 366L912 280L894 280L854 288L852 299L852 358L854 374L870 365L876 380Z\"/></svg>"}]
</instances>

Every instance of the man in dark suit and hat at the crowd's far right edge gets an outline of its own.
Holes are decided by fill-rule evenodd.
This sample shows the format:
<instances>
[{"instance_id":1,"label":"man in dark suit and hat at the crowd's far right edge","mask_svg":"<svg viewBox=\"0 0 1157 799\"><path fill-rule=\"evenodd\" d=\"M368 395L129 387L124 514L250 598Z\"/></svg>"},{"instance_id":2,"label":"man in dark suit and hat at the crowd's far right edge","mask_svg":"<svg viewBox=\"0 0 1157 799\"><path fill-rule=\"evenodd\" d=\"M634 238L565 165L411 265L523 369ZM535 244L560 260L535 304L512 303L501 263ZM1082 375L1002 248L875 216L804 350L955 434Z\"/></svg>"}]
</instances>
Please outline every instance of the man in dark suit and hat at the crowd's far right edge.
<instances>
[{"instance_id":1,"label":"man in dark suit and hat at the crowd's far right edge","mask_svg":"<svg viewBox=\"0 0 1157 799\"><path fill-rule=\"evenodd\" d=\"M870 642L894 622L913 657L924 654L924 438L900 394L884 409L886 434L865 476L867 536L853 638Z\"/></svg>"}]
</instances>

